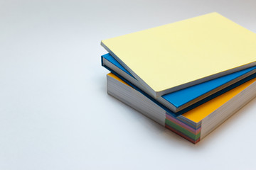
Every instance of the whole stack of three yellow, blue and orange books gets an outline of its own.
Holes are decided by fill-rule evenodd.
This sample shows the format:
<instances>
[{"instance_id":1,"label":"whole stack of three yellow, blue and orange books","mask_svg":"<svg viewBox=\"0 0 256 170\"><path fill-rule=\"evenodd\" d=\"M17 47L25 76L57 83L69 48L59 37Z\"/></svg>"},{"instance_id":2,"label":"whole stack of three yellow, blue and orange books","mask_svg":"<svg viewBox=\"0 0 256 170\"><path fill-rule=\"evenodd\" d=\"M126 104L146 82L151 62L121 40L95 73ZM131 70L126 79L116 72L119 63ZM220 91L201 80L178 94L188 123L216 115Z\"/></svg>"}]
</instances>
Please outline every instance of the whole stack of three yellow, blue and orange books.
<instances>
[{"instance_id":1,"label":"whole stack of three yellow, blue and orange books","mask_svg":"<svg viewBox=\"0 0 256 170\"><path fill-rule=\"evenodd\" d=\"M108 94L193 143L256 96L256 34L218 13L101 45Z\"/></svg>"}]
</instances>

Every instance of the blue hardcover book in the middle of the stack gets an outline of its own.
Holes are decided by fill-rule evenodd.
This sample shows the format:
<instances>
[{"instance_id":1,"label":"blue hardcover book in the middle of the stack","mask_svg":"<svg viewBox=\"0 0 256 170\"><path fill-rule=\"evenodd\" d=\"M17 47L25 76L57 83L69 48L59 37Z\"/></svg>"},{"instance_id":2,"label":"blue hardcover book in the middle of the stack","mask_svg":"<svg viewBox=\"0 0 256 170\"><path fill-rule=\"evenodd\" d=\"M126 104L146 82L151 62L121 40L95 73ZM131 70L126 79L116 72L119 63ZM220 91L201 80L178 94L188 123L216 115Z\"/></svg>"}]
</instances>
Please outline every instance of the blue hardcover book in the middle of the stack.
<instances>
[{"instance_id":1,"label":"blue hardcover book in the middle of the stack","mask_svg":"<svg viewBox=\"0 0 256 170\"><path fill-rule=\"evenodd\" d=\"M119 64L119 62L117 62L117 60L115 60L110 54L102 55L102 66L109 69L110 72L117 75L117 77L121 76L121 79L123 77L124 81L127 80L128 83L130 82L134 86L137 86L139 89L144 91L146 94L149 94L149 96L153 97L146 90L146 88L144 88L144 86L142 86L142 84L140 84L139 81L137 81L137 79L133 77L132 74L130 74L127 69L125 69L122 64ZM166 108L169 108L171 111L177 113L199 101L202 101L204 98L225 89L231 84L235 84L236 82L245 79L245 77L255 74L255 72L256 67L250 67L248 69L212 79L201 84L196 84L179 91L174 91L170 94L165 94L159 98L156 98L156 101L159 101L159 103L166 106ZM252 78L255 77L256 74ZM228 91L229 89L226 90ZM208 100L210 100L210 98L208 98ZM206 102L207 100L204 101Z\"/></svg>"}]
</instances>

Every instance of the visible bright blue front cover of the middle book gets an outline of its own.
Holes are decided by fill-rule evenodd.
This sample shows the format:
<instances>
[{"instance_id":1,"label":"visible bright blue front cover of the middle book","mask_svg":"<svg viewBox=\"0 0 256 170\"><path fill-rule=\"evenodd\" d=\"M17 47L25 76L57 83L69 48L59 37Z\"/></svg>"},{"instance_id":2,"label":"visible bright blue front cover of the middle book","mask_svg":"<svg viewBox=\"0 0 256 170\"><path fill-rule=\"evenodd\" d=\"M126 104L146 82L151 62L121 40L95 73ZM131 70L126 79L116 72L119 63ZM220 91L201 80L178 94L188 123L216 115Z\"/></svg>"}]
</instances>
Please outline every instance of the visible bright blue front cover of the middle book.
<instances>
[{"instance_id":1,"label":"visible bright blue front cover of the middle book","mask_svg":"<svg viewBox=\"0 0 256 170\"><path fill-rule=\"evenodd\" d=\"M111 62L112 64L114 64L115 66L117 66L119 69L122 69L122 71L132 76L132 74L130 74L127 71L127 69L124 69L124 67L122 67L122 65L119 64L119 62L117 62L117 60L115 60L114 57L112 57L110 54L103 55L102 57L108 60L109 62ZM212 91L218 88L219 86L222 86L223 84L228 83L229 81L232 81L233 79L237 79L238 77L241 77L242 75L247 74L248 72L251 72L253 69L256 69L256 66L250 67L248 69L243 69L240 72L228 74L226 76L219 77L217 79L212 79L210 81L206 81L201 84L196 84L186 89L174 91L171 94L165 94L164 96L161 96L161 97L163 97L164 99L166 99L166 101L169 101L176 108L178 108L188 103L189 101L192 101L193 99L198 98L203 94L206 94L209 91ZM255 75L255 74L252 74L252 75ZM252 76L251 79L254 77L255 76Z\"/></svg>"}]
</instances>

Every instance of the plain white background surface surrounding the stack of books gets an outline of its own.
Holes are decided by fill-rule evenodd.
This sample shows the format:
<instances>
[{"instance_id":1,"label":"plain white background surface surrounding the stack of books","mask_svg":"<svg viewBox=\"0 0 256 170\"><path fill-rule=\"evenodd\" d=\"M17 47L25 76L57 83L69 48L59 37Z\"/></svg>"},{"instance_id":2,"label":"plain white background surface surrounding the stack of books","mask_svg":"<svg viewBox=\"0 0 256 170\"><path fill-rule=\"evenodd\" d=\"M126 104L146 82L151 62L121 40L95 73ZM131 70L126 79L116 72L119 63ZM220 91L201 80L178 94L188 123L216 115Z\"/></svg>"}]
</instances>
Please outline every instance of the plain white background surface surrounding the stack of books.
<instances>
[{"instance_id":1,"label":"plain white background surface surrounding the stack of books","mask_svg":"<svg viewBox=\"0 0 256 170\"><path fill-rule=\"evenodd\" d=\"M197 145L107 95L100 40L256 1L0 1L0 169L255 169L256 100Z\"/></svg>"}]
</instances>

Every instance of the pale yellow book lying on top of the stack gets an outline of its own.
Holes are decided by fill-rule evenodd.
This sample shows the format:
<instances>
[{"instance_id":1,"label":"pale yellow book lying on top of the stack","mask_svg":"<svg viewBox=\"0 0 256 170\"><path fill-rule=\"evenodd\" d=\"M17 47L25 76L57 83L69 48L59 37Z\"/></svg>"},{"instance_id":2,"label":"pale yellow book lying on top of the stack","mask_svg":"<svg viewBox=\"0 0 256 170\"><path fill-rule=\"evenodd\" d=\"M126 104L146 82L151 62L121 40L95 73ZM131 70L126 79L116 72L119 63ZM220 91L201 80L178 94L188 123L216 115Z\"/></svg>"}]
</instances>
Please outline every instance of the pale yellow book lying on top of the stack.
<instances>
[{"instance_id":1,"label":"pale yellow book lying on top of the stack","mask_svg":"<svg viewBox=\"0 0 256 170\"><path fill-rule=\"evenodd\" d=\"M102 40L155 98L256 65L256 34L219 13Z\"/></svg>"}]
</instances>

